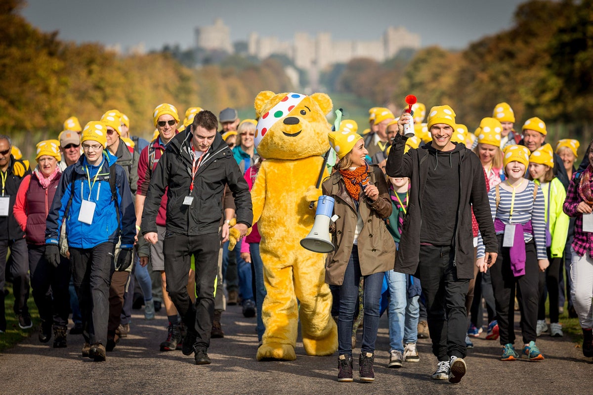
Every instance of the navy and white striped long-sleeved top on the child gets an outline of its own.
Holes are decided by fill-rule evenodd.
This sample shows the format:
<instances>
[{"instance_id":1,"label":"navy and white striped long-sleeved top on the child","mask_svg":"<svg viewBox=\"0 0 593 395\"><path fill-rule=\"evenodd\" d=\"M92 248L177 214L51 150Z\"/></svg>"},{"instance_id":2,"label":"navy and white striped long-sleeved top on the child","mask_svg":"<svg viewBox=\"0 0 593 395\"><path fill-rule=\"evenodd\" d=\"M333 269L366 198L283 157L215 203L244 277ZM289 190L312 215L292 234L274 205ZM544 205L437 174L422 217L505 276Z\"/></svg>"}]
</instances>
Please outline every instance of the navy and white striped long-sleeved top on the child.
<instances>
[{"instance_id":1,"label":"navy and white striped long-sleeved top on the child","mask_svg":"<svg viewBox=\"0 0 593 395\"><path fill-rule=\"evenodd\" d=\"M533 200L533 189L537 188L537 196ZM490 201L490 212L492 212L492 219L498 218L505 224L509 224L509 214L511 214L511 198L512 192L498 188L500 194L500 203L498 211L496 210L496 188L490 188L488 192L488 199ZM533 181L528 181L527 187L522 192L515 193L515 202L512 212L513 224L526 224L531 221L533 228L533 235L525 233L525 243L535 238L535 250L537 251L537 259L547 259L546 252L546 209L544 203L544 194L541 189L535 185ZM497 232L502 234L504 232ZM478 235L478 253L477 257L481 258L485 255L484 243L482 235Z\"/></svg>"}]
</instances>

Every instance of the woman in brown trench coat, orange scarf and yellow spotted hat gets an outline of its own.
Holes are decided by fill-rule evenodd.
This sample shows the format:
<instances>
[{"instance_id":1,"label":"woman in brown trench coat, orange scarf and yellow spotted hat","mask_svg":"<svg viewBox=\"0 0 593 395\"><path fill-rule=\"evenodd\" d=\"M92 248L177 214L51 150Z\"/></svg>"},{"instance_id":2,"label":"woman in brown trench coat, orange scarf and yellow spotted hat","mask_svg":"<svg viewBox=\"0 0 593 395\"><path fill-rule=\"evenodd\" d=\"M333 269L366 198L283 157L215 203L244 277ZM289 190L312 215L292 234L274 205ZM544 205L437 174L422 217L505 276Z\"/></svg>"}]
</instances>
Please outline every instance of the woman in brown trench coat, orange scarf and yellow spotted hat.
<instances>
[{"instance_id":1,"label":"woman in brown trench coat, orange scarf and yellow spotted hat","mask_svg":"<svg viewBox=\"0 0 593 395\"><path fill-rule=\"evenodd\" d=\"M340 292L337 380L352 381L352 323L362 276L364 327L359 374L361 381L373 381L381 286L384 272L393 269L396 254L383 221L391 215L391 200L382 171L365 162L368 151L360 135L331 132L329 140L339 158L338 170L322 185L323 194L334 198L334 214L340 217L332 235L336 250L326 262L326 282L339 285Z\"/></svg>"}]
</instances>

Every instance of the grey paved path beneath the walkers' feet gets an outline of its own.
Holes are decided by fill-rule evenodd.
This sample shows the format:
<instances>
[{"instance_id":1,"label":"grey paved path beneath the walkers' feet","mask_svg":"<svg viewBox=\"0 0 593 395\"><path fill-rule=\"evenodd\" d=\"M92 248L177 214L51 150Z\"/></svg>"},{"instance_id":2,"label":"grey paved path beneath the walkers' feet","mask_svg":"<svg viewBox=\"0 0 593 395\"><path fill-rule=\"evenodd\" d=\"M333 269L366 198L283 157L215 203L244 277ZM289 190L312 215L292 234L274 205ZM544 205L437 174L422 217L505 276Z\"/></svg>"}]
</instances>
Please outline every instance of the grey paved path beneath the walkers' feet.
<instances>
[{"instance_id":1,"label":"grey paved path beneath the walkers' feet","mask_svg":"<svg viewBox=\"0 0 593 395\"><path fill-rule=\"evenodd\" d=\"M385 314L377 340L375 382L358 382L357 370L354 383L337 383L337 356L307 356L302 343L297 343L296 361L257 362L255 319L244 318L238 306L229 306L222 315L225 338L212 339L212 364L203 366L194 365L193 356L181 351L158 351L165 336L164 310L152 321L145 321L139 310L135 313L129 336L102 363L82 358L82 336L68 336L68 348L53 349L39 343L34 333L0 355L0 394L593 393L591 358L584 358L567 337L540 337L537 343L546 356L541 362L500 362L498 340L475 339L476 347L466 358L467 375L453 385L431 380L436 358L429 340L419 340L419 363L385 367L389 349Z\"/></svg>"}]
</instances>

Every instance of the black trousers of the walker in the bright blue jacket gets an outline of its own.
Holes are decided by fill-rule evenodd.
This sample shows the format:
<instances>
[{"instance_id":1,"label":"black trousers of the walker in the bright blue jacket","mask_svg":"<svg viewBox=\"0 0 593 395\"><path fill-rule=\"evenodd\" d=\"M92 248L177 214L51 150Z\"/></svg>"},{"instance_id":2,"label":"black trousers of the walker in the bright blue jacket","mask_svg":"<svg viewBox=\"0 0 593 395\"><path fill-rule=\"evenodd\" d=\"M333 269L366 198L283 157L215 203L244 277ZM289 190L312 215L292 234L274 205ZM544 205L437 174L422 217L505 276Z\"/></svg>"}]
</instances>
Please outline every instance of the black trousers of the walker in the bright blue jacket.
<instances>
[{"instance_id":1,"label":"black trousers of the walker in the bright blue jacket","mask_svg":"<svg viewBox=\"0 0 593 395\"><path fill-rule=\"evenodd\" d=\"M82 336L94 344L107 342L109 283L113 267L114 243L101 243L90 249L70 247L72 279L82 315Z\"/></svg>"}]
</instances>

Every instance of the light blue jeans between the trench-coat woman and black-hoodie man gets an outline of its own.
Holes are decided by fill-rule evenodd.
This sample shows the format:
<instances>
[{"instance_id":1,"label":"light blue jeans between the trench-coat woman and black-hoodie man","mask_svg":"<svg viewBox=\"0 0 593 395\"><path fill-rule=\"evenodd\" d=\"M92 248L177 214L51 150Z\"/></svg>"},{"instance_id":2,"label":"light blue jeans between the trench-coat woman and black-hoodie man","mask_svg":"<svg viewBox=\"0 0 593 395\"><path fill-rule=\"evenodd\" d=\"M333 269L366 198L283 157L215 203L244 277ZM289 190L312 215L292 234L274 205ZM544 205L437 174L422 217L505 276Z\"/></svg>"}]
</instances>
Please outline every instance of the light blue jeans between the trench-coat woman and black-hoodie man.
<instances>
[{"instance_id":1,"label":"light blue jeans between the trench-coat woman and black-hoodie man","mask_svg":"<svg viewBox=\"0 0 593 395\"><path fill-rule=\"evenodd\" d=\"M419 295L407 297L407 281L404 273L385 272L389 285L389 346L391 350L404 352L404 343L416 343L420 306Z\"/></svg>"}]
</instances>

